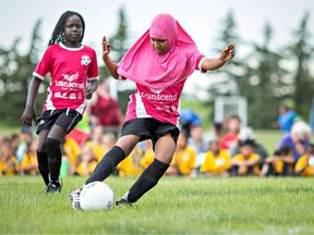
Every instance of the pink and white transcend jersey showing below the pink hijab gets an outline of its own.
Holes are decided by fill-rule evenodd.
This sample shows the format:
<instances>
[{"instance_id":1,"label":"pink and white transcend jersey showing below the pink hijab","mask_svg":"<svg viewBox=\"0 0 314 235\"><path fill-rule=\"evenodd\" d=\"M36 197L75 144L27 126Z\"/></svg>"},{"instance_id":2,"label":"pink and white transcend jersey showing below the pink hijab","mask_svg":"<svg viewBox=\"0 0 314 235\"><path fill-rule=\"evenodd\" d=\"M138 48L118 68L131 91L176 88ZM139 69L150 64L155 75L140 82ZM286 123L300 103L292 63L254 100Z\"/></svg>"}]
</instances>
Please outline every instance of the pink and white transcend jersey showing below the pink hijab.
<instances>
[{"instance_id":1,"label":"pink and white transcend jersey showing below the pink hijab","mask_svg":"<svg viewBox=\"0 0 314 235\"><path fill-rule=\"evenodd\" d=\"M201 67L203 55L196 60L195 69ZM155 89L136 83L136 91L130 96L125 122L133 119L154 118L164 123L178 124L179 99L185 81L165 89Z\"/></svg>"}]
</instances>

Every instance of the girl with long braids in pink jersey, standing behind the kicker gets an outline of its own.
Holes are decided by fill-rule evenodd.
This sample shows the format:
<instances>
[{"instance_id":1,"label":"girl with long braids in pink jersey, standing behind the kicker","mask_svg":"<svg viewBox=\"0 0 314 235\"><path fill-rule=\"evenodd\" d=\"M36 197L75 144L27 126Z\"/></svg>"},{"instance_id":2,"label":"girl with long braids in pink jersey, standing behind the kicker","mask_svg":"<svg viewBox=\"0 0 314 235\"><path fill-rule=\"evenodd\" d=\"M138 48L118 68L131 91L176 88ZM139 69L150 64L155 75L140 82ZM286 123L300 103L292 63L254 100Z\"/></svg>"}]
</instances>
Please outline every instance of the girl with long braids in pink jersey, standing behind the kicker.
<instances>
[{"instance_id":1,"label":"girl with long braids in pink jersey, standing behind the kicker","mask_svg":"<svg viewBox=\"0 0 314 235\"><path fill-rule=\"evenodd\" d=\"M64 12L51 35L29 84L27 101L21 118L26 125L35 120L34 103L38 88L50 73L50 86L43 112L36 120L39 135L38 169L47 193L60 191L60 143L81 121L87 99L98 86L96 52L82 44L85 22L77 12Z\"/></svg>"}]
</instances>

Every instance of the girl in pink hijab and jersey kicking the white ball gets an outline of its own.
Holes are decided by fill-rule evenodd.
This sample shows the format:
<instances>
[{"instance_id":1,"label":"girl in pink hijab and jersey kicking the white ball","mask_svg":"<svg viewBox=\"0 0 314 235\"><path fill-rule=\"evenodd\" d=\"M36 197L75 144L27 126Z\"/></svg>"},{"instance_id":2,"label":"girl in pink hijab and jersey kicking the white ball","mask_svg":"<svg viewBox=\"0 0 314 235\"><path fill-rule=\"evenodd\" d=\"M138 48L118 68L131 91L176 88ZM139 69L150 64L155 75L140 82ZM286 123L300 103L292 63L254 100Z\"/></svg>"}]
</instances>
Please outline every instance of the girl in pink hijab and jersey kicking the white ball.
<instances>
[{"instance_id":1,"label":"girl in pink hijab and jersey kicking the white ball","mask_svg":"<svg viewBox=\"0 0 314 235\"><path fill-rule=\"evenodd\" d=\"M110 45L102 39L102 60L116 79L136 84L130 96L125 123L116 146L98 163L85 184L107 178L138 141L152 139L155 160L145 169L116 206L134 203L164 175L176 151L179 128L179 99L186 78L195 71L221 67L234 55L228 45L220 55L208 59L169 14L157 15L148 30L130 48L120 63L110 60ZM72 207L80 209L80 189L71 194Z\"/></svg>"}]
</instances>

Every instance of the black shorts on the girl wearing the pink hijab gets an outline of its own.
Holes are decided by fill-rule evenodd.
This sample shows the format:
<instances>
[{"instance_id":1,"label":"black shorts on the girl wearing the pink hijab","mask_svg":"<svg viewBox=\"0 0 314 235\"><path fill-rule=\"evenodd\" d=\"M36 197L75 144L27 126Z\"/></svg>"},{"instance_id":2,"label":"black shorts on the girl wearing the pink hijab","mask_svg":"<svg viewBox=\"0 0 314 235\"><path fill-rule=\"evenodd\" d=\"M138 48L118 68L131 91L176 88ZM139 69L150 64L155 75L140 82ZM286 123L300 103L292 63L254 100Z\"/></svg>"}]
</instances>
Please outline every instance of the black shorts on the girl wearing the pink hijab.
<instances>
[{"instance_id":1,"label":"black shorts on the girl wearing the pink hijab","mask_svg":"<svg viewBox=\"0 0 314 235\"><path fill-rule=\"evenodd\" d=\"M156 119L145 118L125 122L121 131L121 136L138 135L141 136L140 141L152 139L155 149L157 140L167 133L171 134L171 137L177 145L180 131L176 125L162 123Z\"/></svg>"}]
</instances>

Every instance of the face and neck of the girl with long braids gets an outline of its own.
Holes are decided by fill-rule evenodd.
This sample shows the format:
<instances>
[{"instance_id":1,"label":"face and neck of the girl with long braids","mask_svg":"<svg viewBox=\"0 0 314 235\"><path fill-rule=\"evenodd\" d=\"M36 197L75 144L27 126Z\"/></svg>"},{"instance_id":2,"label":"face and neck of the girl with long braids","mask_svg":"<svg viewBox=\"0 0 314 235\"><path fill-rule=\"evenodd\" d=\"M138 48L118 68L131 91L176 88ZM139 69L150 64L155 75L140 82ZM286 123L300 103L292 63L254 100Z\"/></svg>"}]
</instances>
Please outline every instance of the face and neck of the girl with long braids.
<instances>
[{"instance_id":1,"label":"face and neck of the girl with long braids","mask_svg":"<svg viewBox=\"0 0 314 235\"><path fill-rule=\"evenodd\" d=\"M67 47L80 47L80 39L83 35L83 25L81 18L77 15L72 15L69 17L64 27L64 36L67 38Z\"/></svg>"}]
</instances>

